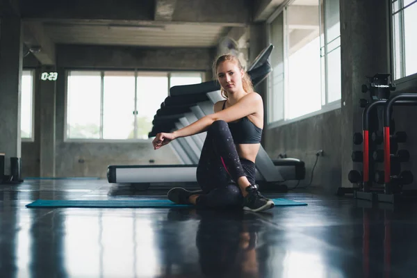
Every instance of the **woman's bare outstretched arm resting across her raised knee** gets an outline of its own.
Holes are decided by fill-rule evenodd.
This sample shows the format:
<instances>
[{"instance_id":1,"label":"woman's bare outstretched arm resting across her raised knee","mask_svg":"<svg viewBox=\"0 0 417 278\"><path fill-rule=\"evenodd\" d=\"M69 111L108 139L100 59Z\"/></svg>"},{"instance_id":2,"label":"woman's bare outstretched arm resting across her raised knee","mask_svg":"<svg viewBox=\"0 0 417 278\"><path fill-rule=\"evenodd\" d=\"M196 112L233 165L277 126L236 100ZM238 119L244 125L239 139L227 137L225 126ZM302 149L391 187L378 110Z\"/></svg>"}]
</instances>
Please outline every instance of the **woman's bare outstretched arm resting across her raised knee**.
<instances>
[{"instance_id":1,"label":"woman's bare outstretched arm resting across her raised knee","mask_svg":"<svg viewBox=\"0 0 417 278\"><path fill-rule=\"evenodd\" d=\"M211 115L206 115L193 124L189 124L182 129L174 131L174 138L181 138L186 136L192 136L197 133L202 133L208 129L208 126L211 126L213 122L217 120L224 120L224 122L234 122L239 120L242 117L251 115L259 111L259 108L262 106L262 98L256 92L242 97L236 104L220 110Z\"/></svg>"}]
</instances>

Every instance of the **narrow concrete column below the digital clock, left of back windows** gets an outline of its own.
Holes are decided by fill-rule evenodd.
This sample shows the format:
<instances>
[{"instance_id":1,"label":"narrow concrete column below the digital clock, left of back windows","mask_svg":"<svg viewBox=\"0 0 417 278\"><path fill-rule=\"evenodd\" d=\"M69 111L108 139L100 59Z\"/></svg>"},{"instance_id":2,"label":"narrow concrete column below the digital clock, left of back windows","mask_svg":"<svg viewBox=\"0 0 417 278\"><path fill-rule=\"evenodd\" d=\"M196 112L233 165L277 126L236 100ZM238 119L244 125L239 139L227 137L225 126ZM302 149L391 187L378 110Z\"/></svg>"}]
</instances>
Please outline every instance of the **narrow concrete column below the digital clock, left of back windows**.
<instances>
[{"instance_id":1,"label":"narrow concrete column below the digital clock, left of back windows","mask_svg":"<svg viewBox=\"0 0 417 278\"><path fill-rule=\"evenodd\" d=\"M42 72L56 72L42 67ZM62 77L62 76L60 76ZM56 81L40 81L40 177L55 177Z\"/></svg>"}]
</instances>

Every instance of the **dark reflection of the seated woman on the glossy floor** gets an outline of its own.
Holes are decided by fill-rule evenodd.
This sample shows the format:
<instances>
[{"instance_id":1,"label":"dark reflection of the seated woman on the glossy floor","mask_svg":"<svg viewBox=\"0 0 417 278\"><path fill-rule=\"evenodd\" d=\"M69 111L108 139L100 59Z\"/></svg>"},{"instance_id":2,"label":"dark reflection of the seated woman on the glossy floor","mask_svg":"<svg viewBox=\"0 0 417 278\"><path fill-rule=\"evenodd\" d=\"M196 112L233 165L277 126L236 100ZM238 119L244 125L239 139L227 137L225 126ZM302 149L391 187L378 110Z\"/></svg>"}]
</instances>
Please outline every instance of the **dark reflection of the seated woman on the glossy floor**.
<instances>
[{"instance_id":1,"label":"dark reflection of the seated woman on the glossy floor","mask_svg":"<svg viewBox=\"0 0 417 278\"><path fill-rule=\"evenodd\" d=\"M263 213L263 217L271 215ZM189 237L188 245L197 248L197 262L204 277L261 277L256 247L262 225L256 222L257 213L171 209L167 219L197 220L196 234Z\"/></svg>"}]
</instances>

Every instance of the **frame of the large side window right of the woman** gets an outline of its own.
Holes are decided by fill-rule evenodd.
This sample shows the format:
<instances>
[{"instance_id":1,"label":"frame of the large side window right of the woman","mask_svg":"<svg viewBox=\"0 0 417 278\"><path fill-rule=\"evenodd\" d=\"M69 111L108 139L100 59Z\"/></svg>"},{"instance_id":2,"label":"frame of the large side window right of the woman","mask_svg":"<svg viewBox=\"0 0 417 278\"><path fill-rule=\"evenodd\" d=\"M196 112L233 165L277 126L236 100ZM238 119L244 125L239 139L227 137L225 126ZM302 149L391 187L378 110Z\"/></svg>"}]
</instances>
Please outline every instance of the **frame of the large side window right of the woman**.
<instances>
[{"instance_id":1,"label":"frame of the large side window right of the woman","mask_svg":"<svg viewBox=\"0 0 417 278\"><path fill-rule=\"evenodd\" d=\"M283 34L284 34L284 38L283 38L283 41L284 41L284 99L283 99L284 104L283 104L283 110L284 110L284 119L274 121L274 122L269 122L269 114L268 114L268 120L266 121L267 122L267 124L266 124L267 129L273 129L273 128L278 127L278 126L284 126L286 124L291 124L293 122L298 122L300 120L305 120L309 117L313 117L313 116L316 116L316 115L321 115L321 114L327 113L329 111L334 111L336 109L341 108L341 106L342 106L341 105L341 103L342 103L341 99L336 99L335 101L328 102L329 92L328 92L328 86L327 86L327 82L328 82L328 67L327 67L327 63L328 63L327 59L328 58L327 57L328 57L328 54L331 53L332 51L336 50L338 47L340 48L341 46L339 45L338 47L334 48L329 53L327 52L328 44L330 44L331 42L333 42L337 38L334 38L334 40L332 40L331 42L327 42L327 32L326 32L326 30L327 30L326 29L327 28L327 20L325 19L325 15L323 14L324 11L325 11L325 8L326 8L326 6L325 6L326 1L322 2L322 6L320 6L320 0L317 0L317 1L318 1L319 22L320 22L319 33L320 33L320 36L321 35L324 36L324 44L323 45L322 45L322 42L320 40L320 53L319 53L319 55L320 55L320 58L324 57L324 59L325 59L324 60L325 69L322 69L323 63L320 63L320 72L322 72L322 74L325 75L325 76L321 76L321 88L320 88L320 90L322 91L321 102L323 101L322 97L324 95L325 104L322 104L320 110L318 110L318 111L313 111L311 113L307 113L307 114L301 115L299 117L295 117L293 119L286 119L285 118L285 115L286 115L286 101L288 99L288 57L287 57L287 55L288 55L288 49L287 49L288 48L288 38L286 38L287 37L286 20L287 20L287 17L288 17L288 15L287 15L288 5L291 4L293 2L293 0L285 1L284 3L281 4L281 6L279 8L277 8L277 10L275 10L274 13L272 13L272 15L266 21L267 42L268 42L268 44L270 44L272 42L272 35L270 33L271 32L271 30L270 30L271 29L271 27L270 27L271 23L281 13L283 13L283 26L284 26L284 30L283 30ZM339 20L340 20L340 18L339 18ZM324 30L323 30L323 28L324 28ZM339 34L338 38L340 38L340 37L341 37L341 34ZM325 51L324 56L322 56L322 54L321 54L322 49ZM268 83L270 82L271 78L272 78L272 76L268 75L268 77L267 77ZM272 100L272 92L271 92L269 86L267 88L267 94L266 95L267 95L267 100L268 100L268 103L269 103L269 101Z\"/></svg>"}]
</instances>

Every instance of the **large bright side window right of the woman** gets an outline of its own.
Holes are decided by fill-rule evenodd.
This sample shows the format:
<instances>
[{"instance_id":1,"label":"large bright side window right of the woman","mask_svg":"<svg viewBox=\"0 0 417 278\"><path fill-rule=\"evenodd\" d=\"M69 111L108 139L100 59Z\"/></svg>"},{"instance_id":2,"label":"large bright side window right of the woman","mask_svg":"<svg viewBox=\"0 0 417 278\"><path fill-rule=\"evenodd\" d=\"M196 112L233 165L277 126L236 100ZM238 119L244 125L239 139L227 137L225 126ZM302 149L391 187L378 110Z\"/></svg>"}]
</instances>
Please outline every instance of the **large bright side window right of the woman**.
<instances>
[{"instance_id":1,"label":"large bright side window right of the woman","mask_svg":"<svg viewBox=\"0 0 417 278\"><path fill-rule=\"evenodd\" d=\"M295 0L268 19L268 123L340 107L339 0Z\"/></svg>"}]
</instances>

